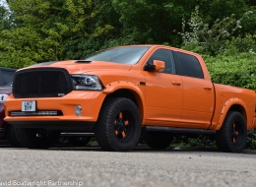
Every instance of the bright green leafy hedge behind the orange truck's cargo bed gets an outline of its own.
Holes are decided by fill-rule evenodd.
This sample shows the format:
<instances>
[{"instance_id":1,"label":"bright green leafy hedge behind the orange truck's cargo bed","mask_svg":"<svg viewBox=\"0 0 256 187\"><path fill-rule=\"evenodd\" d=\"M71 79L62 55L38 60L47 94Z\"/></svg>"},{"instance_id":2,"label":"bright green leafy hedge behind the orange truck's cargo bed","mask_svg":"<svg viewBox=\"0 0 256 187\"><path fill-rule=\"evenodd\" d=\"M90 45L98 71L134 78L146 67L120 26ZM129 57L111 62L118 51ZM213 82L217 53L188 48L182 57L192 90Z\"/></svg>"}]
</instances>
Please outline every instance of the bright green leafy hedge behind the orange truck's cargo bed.
<instances>
[{"instance_id":1,"label":"bright green leafy hedge behind the orange truck's cargo bed","mask_svg":"<svg viewBox=\"0 0 256 187\"><path fill-rule=\"evenodd\" d=\"M256 91L256 55L233 53L205 57L214 83Z\"/></svg>"}]
</instances>

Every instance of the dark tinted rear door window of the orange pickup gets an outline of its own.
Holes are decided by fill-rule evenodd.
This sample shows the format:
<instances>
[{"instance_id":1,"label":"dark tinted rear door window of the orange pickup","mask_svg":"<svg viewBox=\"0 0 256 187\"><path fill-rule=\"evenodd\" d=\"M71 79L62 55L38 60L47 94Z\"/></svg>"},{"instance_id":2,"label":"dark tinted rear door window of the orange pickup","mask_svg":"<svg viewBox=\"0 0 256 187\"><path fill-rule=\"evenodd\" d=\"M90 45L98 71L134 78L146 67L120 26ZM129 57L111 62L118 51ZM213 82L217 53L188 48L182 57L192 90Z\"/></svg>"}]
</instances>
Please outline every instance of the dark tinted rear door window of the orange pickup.
<instances>
[{"instance_id":1,"label":"dark tinted rear door window of the orange pickup","mask_svg":"<svg viewBox=\"0 0 256 187\"><path fill-rule=\"evenodd\" d=\"M176 52L182 76L204 79L204 74L198 59L192 55Z\"/></svg>"}]
</instances>

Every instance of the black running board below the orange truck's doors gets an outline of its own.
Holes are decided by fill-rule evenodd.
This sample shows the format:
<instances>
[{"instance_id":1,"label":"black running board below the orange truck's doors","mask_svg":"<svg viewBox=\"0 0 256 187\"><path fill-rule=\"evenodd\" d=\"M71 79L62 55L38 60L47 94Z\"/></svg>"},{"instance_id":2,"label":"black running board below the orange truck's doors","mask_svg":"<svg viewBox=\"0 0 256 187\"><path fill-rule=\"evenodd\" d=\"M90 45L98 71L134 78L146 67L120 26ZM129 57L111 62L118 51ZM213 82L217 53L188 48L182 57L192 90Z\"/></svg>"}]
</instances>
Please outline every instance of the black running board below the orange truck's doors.
<instances>
[{"instance_id":1,"label":"black running board below the orange truck's doors","mask_svg":"<svg viewBox=\"0 0 256 187\"><path fill-rule=\"evenodd\" d=\"M183 129L183 128L173 128L173 127L157 127L157 126L145 126L147 131L161 131L161 132L170 132L176 134L199 134L199 135L214 135L216 134L215 130L205 130L205 129Z\"/></svg>"}]
</instances>

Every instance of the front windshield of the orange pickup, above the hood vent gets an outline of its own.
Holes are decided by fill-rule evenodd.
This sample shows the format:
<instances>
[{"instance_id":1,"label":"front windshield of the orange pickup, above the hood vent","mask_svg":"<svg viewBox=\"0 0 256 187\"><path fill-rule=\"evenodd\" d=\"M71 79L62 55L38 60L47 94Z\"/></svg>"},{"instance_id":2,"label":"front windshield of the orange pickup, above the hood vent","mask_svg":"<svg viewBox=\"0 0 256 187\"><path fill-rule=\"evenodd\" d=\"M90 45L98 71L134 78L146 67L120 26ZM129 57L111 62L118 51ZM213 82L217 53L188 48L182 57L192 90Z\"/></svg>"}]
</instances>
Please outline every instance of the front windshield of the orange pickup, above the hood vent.
<instances>
[{"instance_id":1,"label":"front windshield of the orange pickup, above the hood vent","mask_svg":"<svg viewBox=\"0 0 256 187\"><path fill-rule=\"evenodd\" d=\"M137 64L149 46L116 47L86 57L90 61L108 61L120 64Z\"/></svg>"}]
</instances>

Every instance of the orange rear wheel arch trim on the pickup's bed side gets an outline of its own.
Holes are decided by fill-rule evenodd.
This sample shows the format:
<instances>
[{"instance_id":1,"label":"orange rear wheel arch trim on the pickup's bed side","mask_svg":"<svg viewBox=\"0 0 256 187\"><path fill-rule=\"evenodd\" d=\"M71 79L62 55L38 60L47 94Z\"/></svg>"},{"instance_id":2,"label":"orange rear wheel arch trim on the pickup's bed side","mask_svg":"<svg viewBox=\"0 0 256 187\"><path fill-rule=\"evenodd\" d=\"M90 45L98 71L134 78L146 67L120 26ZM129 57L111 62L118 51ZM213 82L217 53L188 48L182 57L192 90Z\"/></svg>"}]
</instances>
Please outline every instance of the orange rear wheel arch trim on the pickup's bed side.
<instances>
[{"instance_id":1,"label":"orange rear wheel arch trim on the pickup's bed side","mask_svg":"<svg viewBox=\"0 0 256 187\"><path fill-rule=\"evenodd\" d=\"M224 107L222 109L221 116L219 118L219 121L217 123L218 125L215 130L220 130L222 128L223 123L224 123L224 118L229 111L239 112L243 116L245 123L247 124L247 128L248 128L248 123L247 123L248 116L247 116L247 112L246 112L245 103L239 98L229 98L224 103Z\"/></svg>"}]
</instances>

